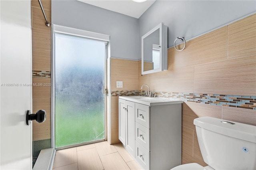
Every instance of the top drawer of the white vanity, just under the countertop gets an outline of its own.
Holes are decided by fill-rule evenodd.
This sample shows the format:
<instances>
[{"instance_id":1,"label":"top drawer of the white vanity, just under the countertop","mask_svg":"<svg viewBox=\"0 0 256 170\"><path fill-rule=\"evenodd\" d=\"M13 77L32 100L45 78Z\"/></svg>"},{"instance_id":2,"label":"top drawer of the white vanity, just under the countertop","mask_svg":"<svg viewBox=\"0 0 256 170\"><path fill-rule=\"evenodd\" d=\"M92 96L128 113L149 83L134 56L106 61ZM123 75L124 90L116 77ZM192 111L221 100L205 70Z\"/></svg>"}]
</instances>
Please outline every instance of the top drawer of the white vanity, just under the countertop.
<instances>
[{"instance_id":1,"label":"top drawer of the white vanity, just under the countertop","mask_svg":"<svg viewBox=\"0 0 256 170\"><path fill-rule=\"evenodd\" d=\"M135 103L135 121L150 128L150 107Z\"/></svg>"}]
</instances>

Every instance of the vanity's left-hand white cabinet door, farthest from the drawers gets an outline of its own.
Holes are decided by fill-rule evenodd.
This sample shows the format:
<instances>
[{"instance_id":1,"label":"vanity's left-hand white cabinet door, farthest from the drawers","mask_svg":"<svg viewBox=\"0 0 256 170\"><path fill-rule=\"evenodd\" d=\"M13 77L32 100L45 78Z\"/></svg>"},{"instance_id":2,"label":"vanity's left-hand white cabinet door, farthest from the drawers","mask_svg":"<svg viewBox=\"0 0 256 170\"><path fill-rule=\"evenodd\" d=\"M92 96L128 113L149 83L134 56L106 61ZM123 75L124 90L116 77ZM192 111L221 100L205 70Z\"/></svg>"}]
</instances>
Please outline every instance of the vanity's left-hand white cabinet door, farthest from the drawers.
<instances>
[{"instance_id":1,"label":"vanity's left-hand white cabinet door, farthest from the drawers","mask_svg":"<svg viewBox=\"0 0 256 170\"><path fill-rule=\"evenodd\" d=\"M119 99L118 102L118 139L126 146L126 106L125 100Z\"/></svg>"}]
</instances>

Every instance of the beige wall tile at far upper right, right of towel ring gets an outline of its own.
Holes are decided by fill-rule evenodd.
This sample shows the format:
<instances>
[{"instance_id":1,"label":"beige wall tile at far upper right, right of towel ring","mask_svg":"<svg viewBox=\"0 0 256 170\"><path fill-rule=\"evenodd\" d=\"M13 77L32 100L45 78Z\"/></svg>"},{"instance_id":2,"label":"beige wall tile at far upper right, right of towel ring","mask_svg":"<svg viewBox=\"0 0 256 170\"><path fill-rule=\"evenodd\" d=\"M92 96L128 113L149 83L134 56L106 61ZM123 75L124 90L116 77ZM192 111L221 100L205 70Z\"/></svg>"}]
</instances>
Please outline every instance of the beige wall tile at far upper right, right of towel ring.
<instances>
[{"instance_id":1,"label":"beige wall tile at far upper right, right of towel ring","mask_svg":"<svg viewBox=\"0 0 256 170\"><path fill-rule=\"evenodd\" d=\"M228 25L228 59L256 55L256 14Z\"/></svg>"}]
</instances>

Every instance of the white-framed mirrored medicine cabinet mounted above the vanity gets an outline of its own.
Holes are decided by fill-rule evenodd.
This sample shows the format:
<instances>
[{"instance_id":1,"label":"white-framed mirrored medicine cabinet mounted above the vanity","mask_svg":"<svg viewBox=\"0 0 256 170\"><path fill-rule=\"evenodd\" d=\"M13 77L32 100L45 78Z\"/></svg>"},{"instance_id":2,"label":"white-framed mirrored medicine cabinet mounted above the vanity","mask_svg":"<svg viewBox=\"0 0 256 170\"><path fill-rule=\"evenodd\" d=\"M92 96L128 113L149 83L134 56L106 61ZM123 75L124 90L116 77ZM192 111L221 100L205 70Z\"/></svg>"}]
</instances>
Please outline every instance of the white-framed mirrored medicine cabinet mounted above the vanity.
<instances>
[{"instance_id":1,"label":"white-framed mirrored medicine cabinet mounted above the vanity","mask_svg":"<svg viewBox=\"0 0 256 170\"><path fill-rule=\"evenodd\" d=\"M167 70L167 38L164 23L142 36L142 75Z\"/></svg>"}]
</instances>

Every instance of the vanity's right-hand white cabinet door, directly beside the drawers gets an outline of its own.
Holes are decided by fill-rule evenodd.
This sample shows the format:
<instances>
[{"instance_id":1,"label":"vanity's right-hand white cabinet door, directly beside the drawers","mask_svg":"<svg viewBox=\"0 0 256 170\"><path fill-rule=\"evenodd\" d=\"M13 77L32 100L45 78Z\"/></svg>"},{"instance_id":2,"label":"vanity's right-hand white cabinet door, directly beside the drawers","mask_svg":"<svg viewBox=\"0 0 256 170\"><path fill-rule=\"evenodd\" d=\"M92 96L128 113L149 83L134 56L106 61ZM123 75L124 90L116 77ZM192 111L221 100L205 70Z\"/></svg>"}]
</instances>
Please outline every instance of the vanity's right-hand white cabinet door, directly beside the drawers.
<instances>
[{"instance_id":1,"label":"vanity's right-hand white cabinet door, directly beside the drawers","mask_svg":"<svg viewBox=\"0 0 256 170\"><path fill-rule=\"evenodd\" d=\"M126 101L127 126L126 126L126 148L135 157L135 103Z\"/></svg>"}]
</instances>

